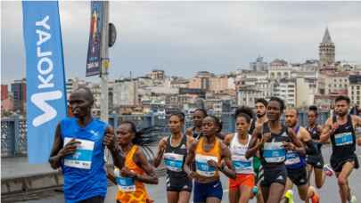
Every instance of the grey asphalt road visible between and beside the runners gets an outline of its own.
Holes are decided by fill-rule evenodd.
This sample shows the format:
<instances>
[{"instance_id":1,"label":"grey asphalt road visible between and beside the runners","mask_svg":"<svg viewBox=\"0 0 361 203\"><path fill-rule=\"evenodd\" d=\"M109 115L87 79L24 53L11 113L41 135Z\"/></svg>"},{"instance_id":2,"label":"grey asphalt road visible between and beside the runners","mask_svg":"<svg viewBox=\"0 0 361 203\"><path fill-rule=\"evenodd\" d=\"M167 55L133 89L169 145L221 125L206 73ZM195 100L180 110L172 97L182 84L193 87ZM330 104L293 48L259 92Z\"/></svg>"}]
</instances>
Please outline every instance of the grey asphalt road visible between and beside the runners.
<instances>
[{"instance_id":1,"label":"grey asphalt road visible between and beside the runners","mask_svg":"<svg viewBox=\"0 0 361 203\"><path fill-rule=\"evenodd\" d=\"M324 147L324 158L325 162L329 162L331 148L330 147ZM361 158L361 148L357 148L357 156L360 159ZM313 177L311 177L311 180L314 180ZM222 202L228 202L228 181L226 176L221 176L221 182L224 189L224 196ZM311 182L314 184L314 182ZM152 199L158 203L158 202L166 202L166 186L165 186L165 177L160 177L160 183L158 185L147 185L147 190L149 191L150 196ZM352 174L349 177L349 185L351 187L352 193L356 195L357 199L361 200L361 170L354 170ZM117 187L111 186L108 188L108 194L106 197L105 202L115 202L115 194L116 194ZM299 196L297 194L296 188L293 188L293 191L295 192L295 202L301 202L299 200ZM339 198L339 192L338 192L338 186L337 186L337 180L335 176L327 177L326 182L324 183L324 187L319 190L319 193L321 195L321 202L326 203L337 203L340 202ZM61 192L53 193L51 197L47 197L45 199L37 199L37 200L31 200L27 201L31 203L61 203L64 202L63 195ZM191 201L192 202L192 201ZM250 202L256 202L254 200L251 200Z\"/></svg>"}]
</instances>

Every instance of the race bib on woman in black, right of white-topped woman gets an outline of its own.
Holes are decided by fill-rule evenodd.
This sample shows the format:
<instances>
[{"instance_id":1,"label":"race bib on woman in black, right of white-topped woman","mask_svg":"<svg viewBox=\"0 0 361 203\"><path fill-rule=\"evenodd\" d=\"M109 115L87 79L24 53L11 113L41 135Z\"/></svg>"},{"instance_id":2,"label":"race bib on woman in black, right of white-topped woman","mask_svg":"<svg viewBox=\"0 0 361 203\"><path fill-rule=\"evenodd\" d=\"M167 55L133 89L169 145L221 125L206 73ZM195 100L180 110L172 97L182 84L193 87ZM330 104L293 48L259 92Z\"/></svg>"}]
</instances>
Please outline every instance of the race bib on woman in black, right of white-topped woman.
<instances>
[{"instance_id":1,"label":"race bib on woman in black, right of white-topped woman","mask_svg":"<svg viewBox=\"0 0 361 203\"><path fill-rule=\"evenodd\" d=\"M286 151L282 142L266 142L263 146L263 157L267 163L280 163L285 159Z\"/></svg>"}]
</instances>

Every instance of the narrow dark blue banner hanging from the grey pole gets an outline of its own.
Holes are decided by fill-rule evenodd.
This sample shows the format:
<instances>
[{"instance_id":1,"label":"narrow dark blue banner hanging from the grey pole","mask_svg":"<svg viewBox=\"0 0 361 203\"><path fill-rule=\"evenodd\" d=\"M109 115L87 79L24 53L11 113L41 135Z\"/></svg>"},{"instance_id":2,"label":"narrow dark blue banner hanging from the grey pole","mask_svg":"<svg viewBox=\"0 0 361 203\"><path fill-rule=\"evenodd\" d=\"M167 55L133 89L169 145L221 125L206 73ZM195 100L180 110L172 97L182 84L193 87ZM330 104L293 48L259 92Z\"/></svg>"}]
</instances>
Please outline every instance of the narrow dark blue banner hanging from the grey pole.
<instances>
[{"instance_id":1,"label":"narrow dark blue banner hanging from the grey pole","mask_svg":"<svg viewBox=\"0 0 361 203\"><path fill-rule=\"evenodd\" d=\"M102 67L103 2L91 2L89 44L87 48L86 76L100 75ZM104 42L108 43L108 42Z\"/></svg>"}]
</instances>

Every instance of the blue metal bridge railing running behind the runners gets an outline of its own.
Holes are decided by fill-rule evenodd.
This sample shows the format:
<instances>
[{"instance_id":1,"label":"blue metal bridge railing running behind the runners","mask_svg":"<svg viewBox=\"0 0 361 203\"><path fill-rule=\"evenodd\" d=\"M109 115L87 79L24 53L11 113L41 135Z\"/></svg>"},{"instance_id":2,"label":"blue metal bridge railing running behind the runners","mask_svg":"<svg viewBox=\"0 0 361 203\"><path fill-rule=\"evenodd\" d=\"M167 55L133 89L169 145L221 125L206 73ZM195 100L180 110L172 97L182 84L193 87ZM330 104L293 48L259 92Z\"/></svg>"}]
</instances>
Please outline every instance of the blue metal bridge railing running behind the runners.
<instances>
[{"instance_id":1,"label":"blue metal bridge railing running behind the runners","mask_svg":"<svg viewBox=\"0 0 361 203\"><path fill-rule=\"evenodd\" d=\"M329 117L328 111L320 112L318 116L318 123L324 124ZM234 133L234 114L223 113L219 116L223 122L224 133ZM284 118L282 118L284 120ZM299 112L300 126L307 126L307 112ZM157 142L160 137L170 134L167 118L158 118L156 115L115 115L111 114L109 117L109 124L111 126L118 126L123 120L130 120L135 123L138 129L152 126L155 128L151 134L148 134L147 139L152 142ZM185 129L193 126L191 119L185 120ZM10 118L3 118L1 121L1 156L2 157L19 157L27 155L27 122L20 116L12 116Z\"/></svg>"}]
</instances>

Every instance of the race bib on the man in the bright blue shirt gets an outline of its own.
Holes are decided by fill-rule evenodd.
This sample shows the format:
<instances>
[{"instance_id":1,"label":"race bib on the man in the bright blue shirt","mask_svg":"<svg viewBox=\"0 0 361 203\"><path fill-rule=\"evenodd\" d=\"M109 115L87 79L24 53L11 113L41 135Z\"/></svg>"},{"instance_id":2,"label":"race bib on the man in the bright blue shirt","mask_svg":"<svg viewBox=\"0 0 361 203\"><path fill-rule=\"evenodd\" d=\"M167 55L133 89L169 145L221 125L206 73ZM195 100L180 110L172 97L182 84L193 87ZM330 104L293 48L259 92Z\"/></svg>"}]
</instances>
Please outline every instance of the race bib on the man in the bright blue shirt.
<instances>
[{"instance_id":1,"label":"race bib on the man in the bright blue shirt","mask_svg":"<svg viewBox=\"0 0 361 203\"><path fill-rule=\"evenodd\" d=\"M64 139L64 146L70 142L72 138ZM94 142L82 139L76 139L81 142L78 144L77 150L64 158L64 166L77 167L82 169L90 169L92 166Z\"/></svg>"}]
</instances>

